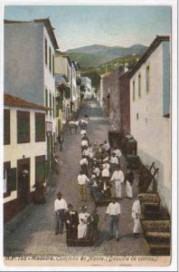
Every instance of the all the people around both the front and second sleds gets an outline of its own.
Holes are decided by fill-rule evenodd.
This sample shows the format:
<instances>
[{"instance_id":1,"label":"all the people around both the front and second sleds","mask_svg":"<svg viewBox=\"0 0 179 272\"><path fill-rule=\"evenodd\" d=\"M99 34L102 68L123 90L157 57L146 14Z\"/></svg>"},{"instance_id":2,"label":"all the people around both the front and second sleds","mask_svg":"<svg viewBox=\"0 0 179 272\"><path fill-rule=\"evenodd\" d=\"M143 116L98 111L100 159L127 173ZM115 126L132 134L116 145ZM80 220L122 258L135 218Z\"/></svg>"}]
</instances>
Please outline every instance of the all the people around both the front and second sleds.
<instances>
[{"instance_id":1,"label":"all the people around both the front and second sleds","mask_svg":"<svg viewBox=\"0 0 179 272\"><path fill-rule=\"evenodd\" d=\"M133 199L134 173L127 166L126 173L121 170L121 151L118 146L110 147L108 141L102 143L89 141L87 126L80 128L80 173L78 175L78 186L80 201L87 202L87 189L93 196L95 202L108 199L109 204L106 210L105 219L109 221L109 237L119 240L119 218L120 204L117 199L122 199L122 184L125 183L126 197ZM115 187L115 196L112 196L111 189ZM134 219L133 233L138 237L140 229L140 198L137 198L132 205L131 216ZM64 225L67 231L67 238L81 239L92 238L98 232L99 215L95 207L91 213L83 203L78 213L71 204L61 198L61 193L57 195L54 202L55 211L55 235L63 232Z\"/></svg>"}]
</instances>

